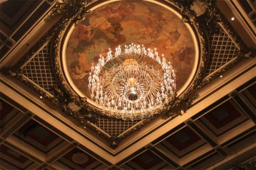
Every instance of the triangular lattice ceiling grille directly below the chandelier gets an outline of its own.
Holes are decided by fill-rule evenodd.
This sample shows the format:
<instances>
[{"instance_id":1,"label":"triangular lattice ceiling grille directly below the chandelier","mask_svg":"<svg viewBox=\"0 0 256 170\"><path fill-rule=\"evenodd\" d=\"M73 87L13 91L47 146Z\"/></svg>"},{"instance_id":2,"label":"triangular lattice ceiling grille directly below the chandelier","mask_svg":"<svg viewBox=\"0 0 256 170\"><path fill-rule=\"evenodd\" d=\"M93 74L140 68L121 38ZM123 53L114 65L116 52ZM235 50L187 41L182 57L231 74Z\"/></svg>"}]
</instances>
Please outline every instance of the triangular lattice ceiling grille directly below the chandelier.
<instances>
[{"instance_id":1,"label":"triangular lattice ceiling grille directly below the chandelier","mask_svg":"<svg viewBox=\"0 0 256 170\"><path fill-rule=\"evenodd\" d=\"M135 125L138 121L123 121L121 119L109 119L102 116L98 117L96 126L104 130L110 136L118 136L125 130Z\"/></svg>"}]
</instances>

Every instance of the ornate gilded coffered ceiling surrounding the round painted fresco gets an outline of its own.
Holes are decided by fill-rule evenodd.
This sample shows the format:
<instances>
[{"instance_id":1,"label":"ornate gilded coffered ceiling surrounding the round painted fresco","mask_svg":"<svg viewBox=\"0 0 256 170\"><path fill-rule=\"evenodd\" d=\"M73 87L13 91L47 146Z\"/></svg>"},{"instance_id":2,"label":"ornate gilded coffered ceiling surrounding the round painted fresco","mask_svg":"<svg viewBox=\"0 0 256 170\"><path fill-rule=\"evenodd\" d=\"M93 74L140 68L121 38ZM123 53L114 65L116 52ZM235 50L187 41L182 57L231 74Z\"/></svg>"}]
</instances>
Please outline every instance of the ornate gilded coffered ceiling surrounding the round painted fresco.
<instances>
[{"instance_id":1,"label":"ornate gilded coffered ceiling surrounding the round painted fresco","mask_svg":"<svg viewBox=\"0 0 256 170\"><path fill-rule=\"evenodd\" d=\"M68 3L87 11L110 1ZM0 1L1 169L255 169L255 1L157 3L196 32L198 69L175 114L123 121L70 109L76 95L60 81L55 56L69 21L87 13L72 18L56 0Z\"/></svg>"}]
</instances>

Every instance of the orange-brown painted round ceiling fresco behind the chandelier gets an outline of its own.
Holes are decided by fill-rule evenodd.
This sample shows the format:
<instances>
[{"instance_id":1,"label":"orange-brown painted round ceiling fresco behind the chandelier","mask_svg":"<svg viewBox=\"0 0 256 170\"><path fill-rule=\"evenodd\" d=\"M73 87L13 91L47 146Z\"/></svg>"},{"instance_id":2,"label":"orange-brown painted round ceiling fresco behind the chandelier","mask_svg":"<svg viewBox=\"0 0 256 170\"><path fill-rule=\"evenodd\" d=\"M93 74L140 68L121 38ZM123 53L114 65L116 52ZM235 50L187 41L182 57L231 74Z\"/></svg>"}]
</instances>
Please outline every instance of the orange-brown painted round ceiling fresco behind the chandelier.
<instances>
[{"instance_id":1,"label":"orange-brown painted round ceiling fresco behind the chandelier","mask_svg":"<svg viewBox=\"0 0 256 170\"><path fill-rule=\"evenodd\" d=\"M88 74L99 55L106 56L125 42L157 48L172 63L177 90L191 74L195 47L189 30L171 11L145 1L118 1L92 11L77 24L66 50L67 69L74 84L86 96Z\"/></svg>"}]
</instances>

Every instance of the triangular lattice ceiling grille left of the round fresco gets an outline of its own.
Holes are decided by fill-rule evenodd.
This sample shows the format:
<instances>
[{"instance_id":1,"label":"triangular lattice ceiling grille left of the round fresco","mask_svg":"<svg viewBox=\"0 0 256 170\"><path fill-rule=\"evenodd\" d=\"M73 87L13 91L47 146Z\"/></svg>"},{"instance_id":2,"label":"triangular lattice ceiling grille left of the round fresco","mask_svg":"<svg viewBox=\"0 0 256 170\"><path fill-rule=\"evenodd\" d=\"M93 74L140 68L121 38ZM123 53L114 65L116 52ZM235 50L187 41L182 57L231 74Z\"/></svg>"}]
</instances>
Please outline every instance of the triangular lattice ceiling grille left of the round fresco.
<instances>
[{"instance_id":1,"label":"triangular lattice ceiling grille left of the round fresco","mask_svg":"<svg viewBox=\"0 0 256 170\"><path fill-rule=\"evenodd\" d=\"M52 87L59 88L50 58L51 42L44 46L23 68L23 75L54 95Z\"/></svg>"}]
</instances>

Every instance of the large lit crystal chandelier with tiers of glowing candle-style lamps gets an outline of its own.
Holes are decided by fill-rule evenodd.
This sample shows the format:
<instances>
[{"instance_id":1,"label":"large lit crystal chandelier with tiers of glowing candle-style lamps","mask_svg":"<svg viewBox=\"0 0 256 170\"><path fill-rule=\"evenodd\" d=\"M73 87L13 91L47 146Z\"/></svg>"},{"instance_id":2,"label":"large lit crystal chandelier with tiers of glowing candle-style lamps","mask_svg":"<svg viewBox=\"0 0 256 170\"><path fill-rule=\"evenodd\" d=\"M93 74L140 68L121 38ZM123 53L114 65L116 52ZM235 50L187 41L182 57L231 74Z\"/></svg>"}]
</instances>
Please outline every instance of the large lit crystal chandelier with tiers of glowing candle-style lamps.
<instances>
[{"instance_id":1,"label":"large lit crystal chandelier with tiers of glowing candle-style lamps","mask_svg":"<svg viewBox=\"0 0 256 170\"><path fill-rule=\"evenodd\" d=\"M108 115L124 120L159 113L175 94L175 73L156 48L127 42L99 56L88 78L91 99Z\"/></svg>"}]
</instances>

